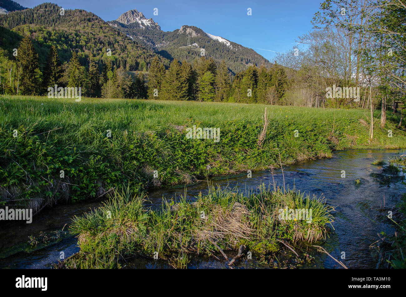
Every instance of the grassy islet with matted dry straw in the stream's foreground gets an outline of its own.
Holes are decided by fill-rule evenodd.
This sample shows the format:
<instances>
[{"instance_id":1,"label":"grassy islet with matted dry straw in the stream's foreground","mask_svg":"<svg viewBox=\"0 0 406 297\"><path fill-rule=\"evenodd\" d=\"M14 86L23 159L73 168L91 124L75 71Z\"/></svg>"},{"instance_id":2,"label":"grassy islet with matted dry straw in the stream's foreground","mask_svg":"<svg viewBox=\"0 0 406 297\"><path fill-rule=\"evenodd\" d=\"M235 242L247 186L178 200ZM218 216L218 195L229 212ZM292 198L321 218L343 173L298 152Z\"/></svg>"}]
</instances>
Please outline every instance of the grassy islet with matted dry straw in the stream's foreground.
<instances>
[{"instance_id":1,"label":"grassy islet with matted dry straw in the stream's foreground","mask_svg":"<svg viewBox=\"0 0 406 297\"><path fill-rule=\"evenodd\" d=\"M279 220L279 209L311 208L313 220ZM71 231L78 234L80 252L61 264L67 268L119 268L130 258L154 255L173 267L186 267L188 259L219 250L238 250L254 257L279 250L277 239L313 242L326 235L333 208L316 197L295 190L270 192L262 185L243 194L237 189L211 188L192 203L164 202L147 211L143 198L117 191L112 201L75 217Z\"/></svg>"}]
</instances>

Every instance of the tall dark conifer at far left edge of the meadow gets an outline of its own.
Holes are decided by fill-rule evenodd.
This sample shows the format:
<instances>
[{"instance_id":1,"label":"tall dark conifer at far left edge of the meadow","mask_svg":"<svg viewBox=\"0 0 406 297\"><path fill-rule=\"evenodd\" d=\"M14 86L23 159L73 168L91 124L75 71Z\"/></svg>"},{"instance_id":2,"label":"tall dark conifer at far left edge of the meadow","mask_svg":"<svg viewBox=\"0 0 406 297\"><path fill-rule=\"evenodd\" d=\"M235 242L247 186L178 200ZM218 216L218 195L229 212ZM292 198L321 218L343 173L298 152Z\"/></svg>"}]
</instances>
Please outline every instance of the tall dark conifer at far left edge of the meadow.
<instances>
[{"instance_id":1,"label":"tall dark conifer at far left edge of the meadow","mask_svg":"<svg viewBox=\"0 0 406 297\"><path fill-rule=\"evenodd\" d=\"M19 93L37 95L41 86L42 73L38 66L38 54L30 37L25 36L17 49L17 66L19 69Z\"/></svg>"}]
</instances>

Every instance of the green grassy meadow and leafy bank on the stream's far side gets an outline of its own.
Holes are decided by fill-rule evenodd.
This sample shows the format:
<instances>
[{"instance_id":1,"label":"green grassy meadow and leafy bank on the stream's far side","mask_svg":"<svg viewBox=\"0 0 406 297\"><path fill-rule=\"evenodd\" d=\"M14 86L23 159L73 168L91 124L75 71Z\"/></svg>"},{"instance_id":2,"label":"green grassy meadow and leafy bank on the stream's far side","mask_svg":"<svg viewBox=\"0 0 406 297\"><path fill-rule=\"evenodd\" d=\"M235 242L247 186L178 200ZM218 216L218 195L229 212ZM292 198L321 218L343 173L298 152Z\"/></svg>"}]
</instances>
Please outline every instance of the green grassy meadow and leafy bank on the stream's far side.
<instances>
[{"instance_id":1,"label":"green grassy meadow and leafy bank on the stream's far side","mask_svg":"<svg viewBox=\"0 0 406 297\"><path fill-rule=\"evenodd\" d=\"M269 126L261 146L262 115ZM375 112L379 116L379 111ZM98 198L123 183L130 192L191 183L331 157L346 148L406 147L399 119L374 140L363 110L212 102L2 96L0 199L15 208ZM360 121L361 120L361 121ZM187 129L218 128L220 138L187 138Z\"/></svg>"}]
</instances>

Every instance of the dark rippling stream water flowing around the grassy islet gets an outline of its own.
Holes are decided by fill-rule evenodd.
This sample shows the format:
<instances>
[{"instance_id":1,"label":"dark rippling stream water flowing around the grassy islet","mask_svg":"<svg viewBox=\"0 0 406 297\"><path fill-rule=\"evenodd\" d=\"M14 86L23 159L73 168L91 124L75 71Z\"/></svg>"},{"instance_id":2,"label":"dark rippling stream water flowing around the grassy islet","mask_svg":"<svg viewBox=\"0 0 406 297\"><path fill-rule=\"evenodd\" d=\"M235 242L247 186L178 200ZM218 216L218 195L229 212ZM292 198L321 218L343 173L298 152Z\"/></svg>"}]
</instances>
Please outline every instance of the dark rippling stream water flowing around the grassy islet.
<instances>
[{"instance_id":1,"label":"dark rippling stream water flowing around the grassy islet","mask_svg":"<svg viewBox=\"0 0 406 297\"><path fill-rule=\"evenodd\" d=\"M331 159L318 159L286 166L283 170L274 170L273 178L270 170L253 172L252 177L247 174L233 176L217 176L212 179L214 185L220 187L238 187L241 190L256 189L262 183L265 185L283 185L285 187L310 193L311 196L324 196L326 202L335 207L335 220L332 232L318 245L336 259L341 259L345 252L343 263L349 268L376 268L380 260L376 248L371 247L382 237L384 231L393 233L391 221L387 218L388 210L392 209L406 187L401 183L403 174L396 178L386 179L382 174L382 166L371 163L375 159L386 160L388 157L403 155L406 150L347 150L335 152ZM345 178L342 170L345 170ZM356 183L359 179L361 183ZM384 181L384 182L382 182ZM202 192L207 193L207 182L200 182L189 186L177 186L171 189L156 189L148 193L151 207L160 207L165 199L185 196L193 200ZM0 225L0 250L26 243L29 235L38 235L40 231L50 232L62 229L71 222L71 217L81 215L85 211L100 205L100 201L71 205L58 205L45 210L33 218L31 224L7 222ZM67 228L67 227L65 227ZM78 252L76 239L68 236L62 241L44 247L34 252L17 252L0 259L0 268L47 268L58 261L60 252L65 258ZM297 250L304 252L304 250ZM319 254L312 249L315 264L304 265L304 268L341 268L332 258ZM130 264L134 268L166 267L164 263L137 260ZM224 261L203 259L192 261L190 268L222 268ZM242 261L238 267L266 268L268 264L258 261ZM382 267L382 266L380 266Z\"/></svg>"}]
</instances>

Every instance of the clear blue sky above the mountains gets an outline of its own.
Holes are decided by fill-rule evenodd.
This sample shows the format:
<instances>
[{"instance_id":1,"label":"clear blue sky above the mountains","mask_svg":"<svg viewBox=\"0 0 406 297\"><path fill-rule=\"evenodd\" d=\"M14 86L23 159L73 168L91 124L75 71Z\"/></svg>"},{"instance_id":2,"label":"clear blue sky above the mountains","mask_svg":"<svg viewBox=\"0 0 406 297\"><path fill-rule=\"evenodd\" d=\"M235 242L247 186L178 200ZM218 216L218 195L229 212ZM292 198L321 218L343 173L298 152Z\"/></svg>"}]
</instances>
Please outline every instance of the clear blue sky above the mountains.
<instances>
[{"instance_id":1,"label":"clear blue sky above the mountains","mask_svg":"<svg viewBox=\"0 0 406 297\"><path fill-rule=\"evenodd\" d=\"M50 0L16 0L32 8ZM182 25L197 26L203 31L221 36L254 49L271 60L274 52L285 52L295 45L295 39L311 30L311 19L322 0L52 0L65 9L84 9L104 19L117 19L130 9L152 17L164 31ZM153 9L158 8L158 15ZM247 15L247 9L252 15Z\"/></svg>"}]
</instances>

